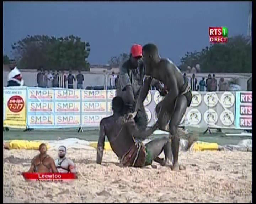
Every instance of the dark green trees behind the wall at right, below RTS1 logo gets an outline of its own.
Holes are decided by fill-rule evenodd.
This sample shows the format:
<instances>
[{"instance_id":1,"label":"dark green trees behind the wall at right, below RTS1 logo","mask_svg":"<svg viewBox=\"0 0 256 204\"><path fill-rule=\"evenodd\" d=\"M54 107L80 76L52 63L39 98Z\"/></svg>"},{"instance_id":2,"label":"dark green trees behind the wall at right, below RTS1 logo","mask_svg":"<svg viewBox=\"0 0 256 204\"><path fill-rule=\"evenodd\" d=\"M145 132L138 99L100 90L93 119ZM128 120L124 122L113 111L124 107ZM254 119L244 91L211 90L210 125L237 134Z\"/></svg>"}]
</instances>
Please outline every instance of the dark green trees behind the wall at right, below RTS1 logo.
<instances>
[{"instance_id":1,"label":"dark green trees behind the wall at right, below RTS1 logo","mask_svg":"<svg viewBox=\"0 0 256 204\"><path fill-rule=\"evenodd\" d=\"M228 38L226 44L213 44L201 52L186 53L181 58L181 70L200 64L201 72L252 72L252 45L242 35Z\"/></svg>"}]
</instances>

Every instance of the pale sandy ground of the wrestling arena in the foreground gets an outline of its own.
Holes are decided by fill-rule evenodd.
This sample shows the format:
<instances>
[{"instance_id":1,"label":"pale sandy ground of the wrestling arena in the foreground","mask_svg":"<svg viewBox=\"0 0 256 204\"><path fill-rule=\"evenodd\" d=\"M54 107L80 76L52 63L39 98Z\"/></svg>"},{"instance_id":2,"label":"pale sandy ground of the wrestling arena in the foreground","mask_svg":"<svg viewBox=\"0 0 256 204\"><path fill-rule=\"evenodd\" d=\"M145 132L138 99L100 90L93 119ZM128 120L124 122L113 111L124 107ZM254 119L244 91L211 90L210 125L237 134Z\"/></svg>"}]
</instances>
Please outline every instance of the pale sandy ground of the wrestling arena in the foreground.
<instances>
[{"instance_id":1,"label":"pale sandy ground of the wrestling arena in the foreground","mask_svg":"<svg viewBox=\"0 0 256 204\"><path fill-rule=\"evenodd\" d=\"M156 169L121 168L112 151L105 151L98 165L95 149L68 149L77 180L26 182L21 172L38 153L4 150L4 203L252 202L252 152L181 152L186 170L173 172L156 163ZM55 150L47 153L57 157Z\"/></svg>"}]
</instances>

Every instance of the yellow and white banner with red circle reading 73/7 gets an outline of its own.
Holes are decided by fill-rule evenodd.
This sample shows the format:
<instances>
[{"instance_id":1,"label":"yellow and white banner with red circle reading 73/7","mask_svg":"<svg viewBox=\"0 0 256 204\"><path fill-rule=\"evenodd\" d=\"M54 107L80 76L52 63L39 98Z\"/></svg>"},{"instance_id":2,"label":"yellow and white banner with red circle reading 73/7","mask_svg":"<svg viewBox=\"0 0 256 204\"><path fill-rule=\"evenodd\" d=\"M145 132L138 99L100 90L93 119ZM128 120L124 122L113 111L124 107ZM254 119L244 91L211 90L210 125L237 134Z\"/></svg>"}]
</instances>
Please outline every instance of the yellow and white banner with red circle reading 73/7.
<instances>
[{"instance_id":1,"label":"yellow and white banner with red circle reading 73/7","mask_svg":"<svg viewBox=\"0 0 256 204\"><path fill-rule=\"evenodd\" d=\"M26 87L4 87L4 127L26 128Z\"/></svg>"}]
</instances>

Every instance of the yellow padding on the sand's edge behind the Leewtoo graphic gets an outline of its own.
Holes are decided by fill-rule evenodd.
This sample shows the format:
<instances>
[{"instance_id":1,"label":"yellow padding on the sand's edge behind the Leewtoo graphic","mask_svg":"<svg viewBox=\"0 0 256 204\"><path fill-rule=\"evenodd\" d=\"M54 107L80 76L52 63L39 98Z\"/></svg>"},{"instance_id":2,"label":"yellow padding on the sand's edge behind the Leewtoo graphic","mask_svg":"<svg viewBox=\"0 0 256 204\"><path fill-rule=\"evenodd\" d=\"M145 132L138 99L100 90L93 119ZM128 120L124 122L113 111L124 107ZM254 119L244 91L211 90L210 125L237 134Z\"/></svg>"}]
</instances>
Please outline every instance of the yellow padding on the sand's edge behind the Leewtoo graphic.
<instances>
[{"instance_id":1,"label":"yellow padding on the sand's edge behind the Leewtoo graphic","mask_svg":"<svg viewBox=\"0 0 256 204\"><path fill-rule=\"evenodd\" d=\"M9 142L5 142L5 146L7 149L34 149L39 150L39 145L43 142L35 142L28 140L11 140ZM46 144L47 149L50 148L49 144Z\"/></svg>"}]
</instances>

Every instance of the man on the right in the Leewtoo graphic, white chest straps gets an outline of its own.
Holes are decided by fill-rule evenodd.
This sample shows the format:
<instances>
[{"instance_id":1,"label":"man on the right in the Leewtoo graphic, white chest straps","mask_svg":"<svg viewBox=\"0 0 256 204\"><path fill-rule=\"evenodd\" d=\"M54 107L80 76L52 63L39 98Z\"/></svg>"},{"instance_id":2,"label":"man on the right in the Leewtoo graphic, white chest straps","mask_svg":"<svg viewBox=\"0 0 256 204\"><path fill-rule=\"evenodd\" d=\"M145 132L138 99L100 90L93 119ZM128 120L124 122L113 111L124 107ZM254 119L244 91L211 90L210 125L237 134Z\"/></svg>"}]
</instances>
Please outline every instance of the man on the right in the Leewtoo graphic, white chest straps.
<instances>
[{"instance_id":1,"label":"man on the right in the Leewtoo graphic, white chest straps","mask_svg":"<svg viewBox=\"0 0 256 204\"><path fill-rule=\"evenodd\" d=\"M55 165L57 166L57 170L60 173L76 173L76 168L74 162L72 162L70 159L66 158L66 147L65 146L59 146L58 149L58 159L55 159Z\"/></svg>"}]
</instances>

